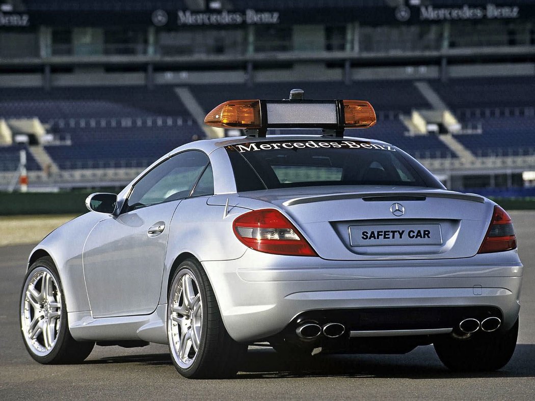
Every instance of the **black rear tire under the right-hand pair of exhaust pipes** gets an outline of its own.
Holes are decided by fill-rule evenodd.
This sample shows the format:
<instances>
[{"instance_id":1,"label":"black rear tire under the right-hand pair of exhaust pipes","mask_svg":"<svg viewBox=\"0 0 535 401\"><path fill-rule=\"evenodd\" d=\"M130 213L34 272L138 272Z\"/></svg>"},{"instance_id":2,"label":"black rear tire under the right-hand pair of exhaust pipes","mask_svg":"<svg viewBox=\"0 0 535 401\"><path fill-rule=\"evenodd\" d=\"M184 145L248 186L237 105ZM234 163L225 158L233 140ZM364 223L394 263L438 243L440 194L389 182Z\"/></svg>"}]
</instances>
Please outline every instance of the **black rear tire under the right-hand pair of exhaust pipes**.
<instances>
[{"instance_id":1,"label":"black rear tire under the right-hand pair of exhaust pipes","mask_svg":"<svg viewBox=\"0 0 535 401\"><path fill-rule=\"evenodd\" d=\"M456 372L491 372L507 365L515 352L518 319L508 331L476 333L468 340L447 337L434 344L442 363Z\"/></svg>"}]
</instances>

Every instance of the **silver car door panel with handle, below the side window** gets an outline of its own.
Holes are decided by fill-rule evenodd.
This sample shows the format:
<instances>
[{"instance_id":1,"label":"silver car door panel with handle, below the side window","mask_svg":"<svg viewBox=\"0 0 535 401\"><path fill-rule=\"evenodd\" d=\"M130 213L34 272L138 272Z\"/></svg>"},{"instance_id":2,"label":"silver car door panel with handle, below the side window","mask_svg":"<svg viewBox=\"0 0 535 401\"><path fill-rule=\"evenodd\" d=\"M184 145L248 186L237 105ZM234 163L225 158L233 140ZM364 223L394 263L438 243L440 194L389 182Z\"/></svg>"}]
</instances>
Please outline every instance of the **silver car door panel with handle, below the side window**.
<instances>
[{"instance_id":1,"label":"silver car door panel with handle, below the side window","mask_svg":"<svg viewBox=\"0 0 535 401\"><path fill-rule=\"evenodd\" d=\"M110 216L91 230L83 248L83 275L93 317L156 309L163 274L157 266L164 265L176 209L177 202L143 207ZM148 234L155 226L162 232Z\"/></svg>"}]
</instances>

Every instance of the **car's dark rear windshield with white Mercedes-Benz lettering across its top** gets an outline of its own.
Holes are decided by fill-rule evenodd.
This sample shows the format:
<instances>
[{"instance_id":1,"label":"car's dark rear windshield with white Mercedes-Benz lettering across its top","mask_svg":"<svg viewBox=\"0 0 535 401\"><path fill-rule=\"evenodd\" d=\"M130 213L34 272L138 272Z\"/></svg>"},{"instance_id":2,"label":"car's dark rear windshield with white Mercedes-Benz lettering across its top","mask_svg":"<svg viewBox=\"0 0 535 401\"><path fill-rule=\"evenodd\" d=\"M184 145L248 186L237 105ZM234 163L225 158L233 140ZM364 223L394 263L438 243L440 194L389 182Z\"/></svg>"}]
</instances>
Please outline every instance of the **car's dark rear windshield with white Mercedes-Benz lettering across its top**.
<instances>
[{"instance_id":1,"label":"car's dark rear windshield with white Mercedes-Benz lettering across its top","mask_svg":"<svg viewBox=\"0 0 535 401\"><path fill-rule=\"evenodd\" d=\"M346 140L226 146L238 191L325 185L443 188L392 145Z\"/></svg>"}]
</instances>

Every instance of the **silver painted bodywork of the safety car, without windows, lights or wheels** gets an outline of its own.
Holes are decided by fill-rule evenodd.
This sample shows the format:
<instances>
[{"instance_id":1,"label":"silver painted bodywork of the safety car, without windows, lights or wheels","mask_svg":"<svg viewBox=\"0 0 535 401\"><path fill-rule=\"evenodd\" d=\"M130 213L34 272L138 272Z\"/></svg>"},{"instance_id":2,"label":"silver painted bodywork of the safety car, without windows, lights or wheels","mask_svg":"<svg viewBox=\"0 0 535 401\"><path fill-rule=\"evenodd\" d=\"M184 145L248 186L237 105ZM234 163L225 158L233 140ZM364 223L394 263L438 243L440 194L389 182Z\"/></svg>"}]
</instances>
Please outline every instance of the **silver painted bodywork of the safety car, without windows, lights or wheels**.
<instances>
[{"instance_id":1,"label":"silver painted bodywork of the safety car, without windows, lights or wheels","mask_svg":"<svg viewBox=\"0 0 535 401\"><path fill-rule=\"evenodd\" d=\"M316 309L492 305L503 313L504 328L514 324L523 275L517 251L477 254L495 205L488 199L389 186L236 192L224 146L314 138L223 138L180 146L118 194L117 211L146 172L188 149L209 156L215 195L124 214L89 212L45 237L30 261L44 252L54 260L73 337L165 343L167 286L177 261L187 257L207 272L236 341L261 340ZM418 199L400 201L404 214L398 217L389 210L396 196ZM234 219L265 208L286 215L319 256L271 255L242 244ZM148 228L160 221L165 235L149 237ZM349 238L353 226L423 222L440 224L442 244L354 246Z\"/></svg>"}]
</instances>

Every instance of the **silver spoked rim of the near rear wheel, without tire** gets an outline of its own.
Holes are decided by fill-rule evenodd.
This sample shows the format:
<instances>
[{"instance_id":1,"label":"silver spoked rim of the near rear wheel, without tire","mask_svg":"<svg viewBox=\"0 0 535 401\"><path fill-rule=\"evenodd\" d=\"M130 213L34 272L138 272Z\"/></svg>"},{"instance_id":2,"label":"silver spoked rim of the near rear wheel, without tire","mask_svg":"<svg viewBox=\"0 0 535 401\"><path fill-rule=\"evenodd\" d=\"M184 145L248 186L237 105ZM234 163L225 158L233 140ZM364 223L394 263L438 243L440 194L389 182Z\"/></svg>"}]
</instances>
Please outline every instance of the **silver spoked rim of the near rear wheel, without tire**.
<instances>
[{"instance_id":1,"label":"silver spoked rim of the near rear wheel, without tire","mask_svg":"<svg viewBox=\"0 0 535 401\"><path fill-rule=\"evenodd\" d=\"M173 281L167 305L167 336L177 364L187 369L197 357L202 336L202 298L195 275L184 269Z\"/></svg>"}]
</instances>

